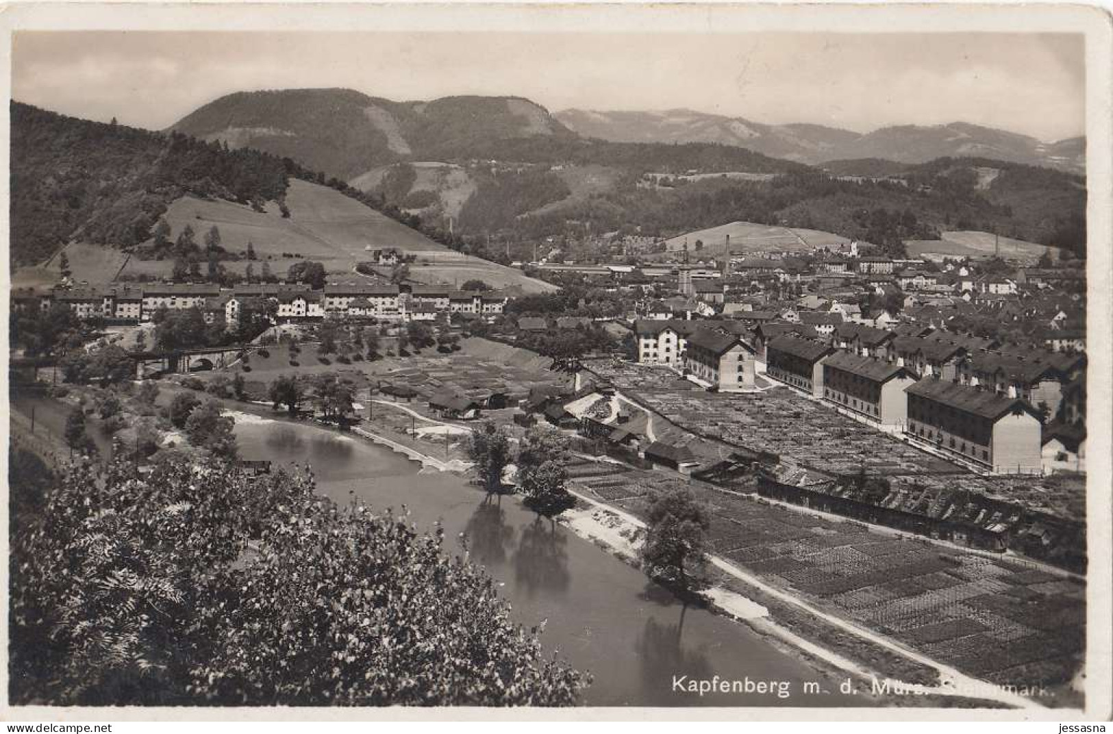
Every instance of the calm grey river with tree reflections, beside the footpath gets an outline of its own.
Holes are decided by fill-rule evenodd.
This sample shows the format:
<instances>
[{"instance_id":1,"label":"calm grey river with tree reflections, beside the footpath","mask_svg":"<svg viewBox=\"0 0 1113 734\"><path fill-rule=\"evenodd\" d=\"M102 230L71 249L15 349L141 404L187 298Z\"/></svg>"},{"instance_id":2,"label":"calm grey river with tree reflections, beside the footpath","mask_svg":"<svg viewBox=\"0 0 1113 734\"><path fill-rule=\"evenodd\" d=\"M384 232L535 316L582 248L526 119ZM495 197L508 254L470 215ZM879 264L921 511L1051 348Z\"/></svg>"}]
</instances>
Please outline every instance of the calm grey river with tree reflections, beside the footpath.
<instances>
[{"instance_id":1,"label":"calm grey river with tree reflections, beside the footpath","mask_svg":"<svg viewBox=\"0 0 1113 734\"><path fill-rule=\"evenodd\" d=\"M308 462L318 488L338 503L357 497L410 513L422 529L440 522L446 550L463 538L472 558L502 582L519 623L546 621L546 651L590 671L584 703L597 706L837 706L859 702L805 694L819 677L795 656L730 619L687 608L637 569L558 525L538 523L512 498L486 500L456 476L378 446L314 426L249 419L236 426L240 455ZM790 695L674 691L673 676L786 683ZM829 684L824 687L831 688Z\"/></svg>"}]
</instances>

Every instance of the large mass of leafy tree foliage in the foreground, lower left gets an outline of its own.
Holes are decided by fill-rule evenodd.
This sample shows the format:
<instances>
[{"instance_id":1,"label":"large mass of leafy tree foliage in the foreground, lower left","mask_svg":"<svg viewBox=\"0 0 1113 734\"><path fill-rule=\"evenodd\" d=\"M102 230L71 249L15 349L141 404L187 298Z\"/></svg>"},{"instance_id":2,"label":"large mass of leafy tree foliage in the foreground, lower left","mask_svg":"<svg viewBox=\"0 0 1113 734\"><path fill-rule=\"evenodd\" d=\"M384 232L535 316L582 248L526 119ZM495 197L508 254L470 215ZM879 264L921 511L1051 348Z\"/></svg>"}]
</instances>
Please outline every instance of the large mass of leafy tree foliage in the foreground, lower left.
<instances>
[{"instance_id":1,"label":"large mass of leafy tree foliage in the foreground, lower left","mask_svg":"<svg viewBox=\"0 0 1113 734\"><path fill-rule=\"evenodd\" d=\"M440 532L308 473L116 460L43 505L11 540L14 703L542 706L590 681Z\"/></svg>"}]
</instances>

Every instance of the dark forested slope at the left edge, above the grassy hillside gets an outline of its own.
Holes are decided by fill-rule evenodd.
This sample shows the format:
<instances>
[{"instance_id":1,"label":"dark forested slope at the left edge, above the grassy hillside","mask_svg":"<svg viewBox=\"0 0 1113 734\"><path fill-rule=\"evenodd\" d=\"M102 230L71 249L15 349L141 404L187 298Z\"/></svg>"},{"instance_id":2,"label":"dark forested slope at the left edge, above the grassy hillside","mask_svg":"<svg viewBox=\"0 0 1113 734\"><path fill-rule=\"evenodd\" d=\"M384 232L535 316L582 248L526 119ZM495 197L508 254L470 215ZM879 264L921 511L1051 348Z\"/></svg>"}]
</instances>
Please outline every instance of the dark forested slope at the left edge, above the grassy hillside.
<instances>
[{"instance_id":1,"label":"dark forested slope at the left edge, above the grassy hillside","mask_svg":"<svg viewBox=\"0 0 1113 734\"><path fill-rule=\"evenodd\" d=\"M13 101L11 264L45 260L70 239L137 245L185 194L260 206L280 200L286 182L283 160L269 153Z\"/></svg>"}]
</instances>

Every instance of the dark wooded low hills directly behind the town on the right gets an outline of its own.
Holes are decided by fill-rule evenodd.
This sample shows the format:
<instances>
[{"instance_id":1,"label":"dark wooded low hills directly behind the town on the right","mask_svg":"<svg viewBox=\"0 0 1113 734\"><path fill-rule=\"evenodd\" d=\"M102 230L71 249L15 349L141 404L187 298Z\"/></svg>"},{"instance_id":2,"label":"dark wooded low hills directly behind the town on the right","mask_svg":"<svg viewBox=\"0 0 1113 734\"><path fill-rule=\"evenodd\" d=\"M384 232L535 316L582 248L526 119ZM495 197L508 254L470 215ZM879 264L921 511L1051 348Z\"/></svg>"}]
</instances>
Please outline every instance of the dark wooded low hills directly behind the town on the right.
<instances>
[{"instance_id":1,"label":"dark wooded low hills directly behind the town on the right","mask_svg":"<svg viewBox=\"0 0 1113 734\"><path fill-rule=\"evenodd\" d=\"M805 169L769 181L709 178L666 189L626 187L520 217L510 228L521 237L541 237L567 231L569 221L590 221L594 231L637 225L642 234L668 236L742 220L820 229L893 254L903 251L904 239L972 229L1084 257L1086 194L1080 177L982 159L909 166L902 176L853 181Z\"/></svg>"}]
</instances>

